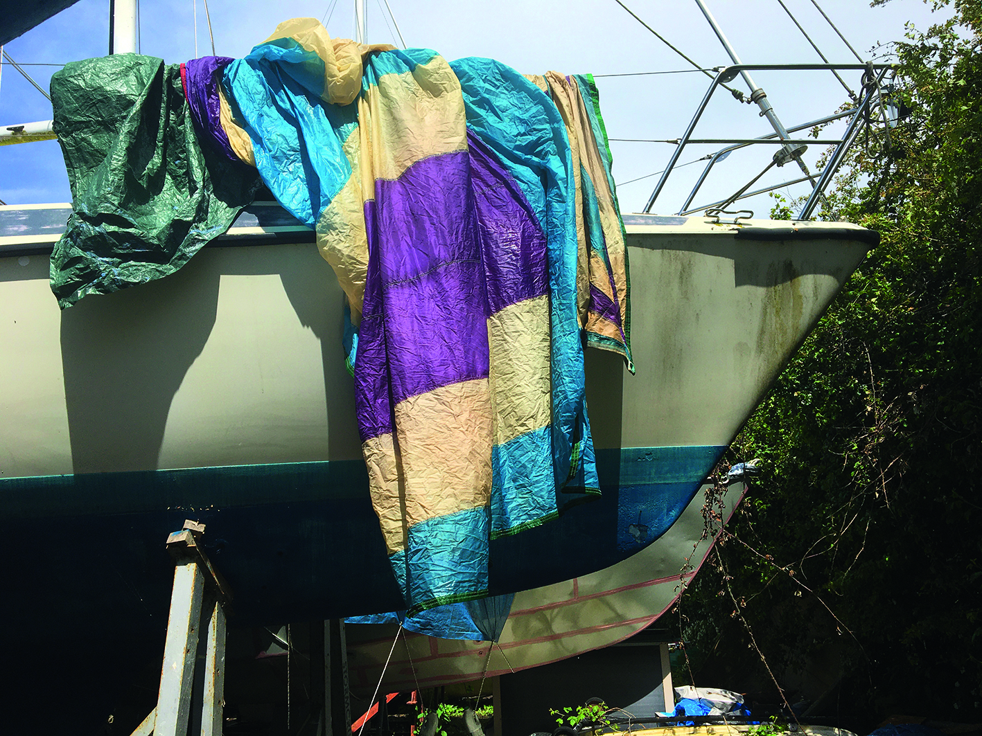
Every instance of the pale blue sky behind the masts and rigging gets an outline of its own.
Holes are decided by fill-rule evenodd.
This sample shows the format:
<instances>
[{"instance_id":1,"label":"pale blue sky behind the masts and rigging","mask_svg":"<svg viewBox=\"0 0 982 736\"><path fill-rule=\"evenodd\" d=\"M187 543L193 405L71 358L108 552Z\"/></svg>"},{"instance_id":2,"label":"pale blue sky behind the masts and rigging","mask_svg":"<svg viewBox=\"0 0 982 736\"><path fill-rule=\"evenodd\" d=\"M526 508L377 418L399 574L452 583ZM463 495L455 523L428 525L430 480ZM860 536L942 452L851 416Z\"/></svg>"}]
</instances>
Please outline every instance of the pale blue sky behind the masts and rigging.
<instances>
[{"instance_id":1,"label":"pale blue sky behind the masts and rigging","mask_svg":"<svg viewBox=\"0 0 982 736\"><path fill-rule=\"evenodd\" d=\"M652 2L625 0L645 22L680 46L705 67L729 63L723 47L691 0ZM368 0L368 38L394 42L383 14L383 0ZM820 59L791 24L776 0L708 0L709 7L747 64L814 63ZM786 0L819 48L834 62L851 63L851 53L825 23L810 0ZM864 58L878 43L902 38L904 24L926 27L929 7L920 0L892 0L870 8L862 0L820 0L823 9ZM169 63L187 61L194 52L195 0L141 0L140 50ZM276 25L293 17L323 18L329 0L209 0L215 48L218 54L243 56L266 38ZM522 73L557 70L595 75L684 70L686 63L614 0L389 0L409 46L436 49L448 59L487 56ZM81 0L61 14L11 41L6 51L22 64L54 63L102 56L108 47L108 0ZM197 53L210 53L202 0L197 7ZM354 3L338 0L327 21L334 36L354 35ZM395 41L398 43L398 41ZM27 66L42 86L58 67ZM859 73L846 81L858 87ZM817 119L845 101L845 90L828 73L757 73L756 82L768 92L786 126ZM676 138L682 135L709 79L700 74L597 79L601 106L611 137ZM735 84L738 83L738 79ZM0 79L0 124L12 125L51 118L50 103L12 67L4 65ZM729 94L718 95L700 123L700 137L754 137L770 132L757 108L740 105ZM690 161L715 147L687 148L682 161ZM664 168L673 146L666 143L612 143L614 175L618 183ZM812 160L818 147L809 152ZM769 157L769 154L768 154ZM761 168L765 159L736 154L720 165L714 189L707 194L729 194ZM814 167L813 167L814 168ZM675 212L701 167L680 169L669 182L656 210ZM773 171L778 183L794 176ZM781 179L780 177L784 177ZM762 184L766 180L762 180ZM643 207L657 178L619 187L622 209ZM791 187L786 193L799 194ZM714 197L715 198L715 197ZM10 204L71 200L68 179L56 141L0 147L0 199ZM769 202L751 204L757 216L766 216Z\"/></svg>"}]
</instances>

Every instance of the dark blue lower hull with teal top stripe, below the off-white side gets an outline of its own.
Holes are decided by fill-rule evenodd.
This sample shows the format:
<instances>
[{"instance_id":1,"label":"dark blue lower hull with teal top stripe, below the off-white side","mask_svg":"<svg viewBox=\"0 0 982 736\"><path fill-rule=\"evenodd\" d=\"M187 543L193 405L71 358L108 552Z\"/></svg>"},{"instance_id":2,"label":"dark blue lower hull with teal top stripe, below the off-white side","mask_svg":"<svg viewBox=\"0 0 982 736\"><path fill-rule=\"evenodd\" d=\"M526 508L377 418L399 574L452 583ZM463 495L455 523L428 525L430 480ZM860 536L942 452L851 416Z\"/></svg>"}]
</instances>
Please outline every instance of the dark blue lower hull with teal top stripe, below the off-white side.
<instances>
[{"instance_id":1,"label":"dark blue lower hull with teal top stripe, below the off-white side","mask_svg":"<svg viewBox=\"0 0 982 736\"><path fill-rule=\"evenodd\" d=\"M724 447L597 451L602 496L491 542L492 595L586 574L660 537ZM137 671L163 652L173 564L167 534L204 522L235 594L229 625L404 607L360 461L0 480L0 604L12 702L101 729Z\"/></svg>"}]
</instances>

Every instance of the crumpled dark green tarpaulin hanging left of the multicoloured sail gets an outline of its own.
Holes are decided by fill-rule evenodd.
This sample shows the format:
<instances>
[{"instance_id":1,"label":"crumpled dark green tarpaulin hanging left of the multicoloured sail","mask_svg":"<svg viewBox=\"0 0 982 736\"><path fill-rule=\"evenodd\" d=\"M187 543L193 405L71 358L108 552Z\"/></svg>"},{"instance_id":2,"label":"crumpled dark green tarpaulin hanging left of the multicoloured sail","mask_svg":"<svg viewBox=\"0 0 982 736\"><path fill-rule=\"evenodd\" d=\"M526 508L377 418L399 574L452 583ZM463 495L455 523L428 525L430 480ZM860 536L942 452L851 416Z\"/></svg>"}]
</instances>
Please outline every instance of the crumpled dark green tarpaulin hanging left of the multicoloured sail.
<instances>
[{"instance_id":1,"label":"crumpled dark green tarpaulin hanging left of the multicoloured sail","mask_svg":"<svg viewBox=\"0 0 982 736\"><path fill-rule=\"evenodd\" d=\"M73 213L51 254L64 309L174 273L225 233L260 182L194 132L178 65L136 54L51 78Z\"/></svg>"}]
</instances>

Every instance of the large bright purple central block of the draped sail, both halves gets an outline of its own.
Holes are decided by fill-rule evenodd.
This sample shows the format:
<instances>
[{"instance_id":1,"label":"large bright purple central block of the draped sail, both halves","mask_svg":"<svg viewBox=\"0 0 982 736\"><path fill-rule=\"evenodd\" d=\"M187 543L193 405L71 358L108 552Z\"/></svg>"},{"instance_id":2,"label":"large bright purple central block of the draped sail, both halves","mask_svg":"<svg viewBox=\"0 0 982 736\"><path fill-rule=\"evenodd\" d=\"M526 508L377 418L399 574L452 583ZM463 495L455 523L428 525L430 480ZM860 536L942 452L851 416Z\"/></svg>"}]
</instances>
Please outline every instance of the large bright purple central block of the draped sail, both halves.
<instances>
[{"instance_id":1,"label":"large bright purple central block of the draped sail, both halves","mask_svg":"<svg viewBox=\"0 0 982 736\"><path fill-rule=\"evenodd\" d=\"M377 180L374 214L369 250L382 282L393 404L487 377L489 312L467 152Z\"/></svg>"}]
</instances>

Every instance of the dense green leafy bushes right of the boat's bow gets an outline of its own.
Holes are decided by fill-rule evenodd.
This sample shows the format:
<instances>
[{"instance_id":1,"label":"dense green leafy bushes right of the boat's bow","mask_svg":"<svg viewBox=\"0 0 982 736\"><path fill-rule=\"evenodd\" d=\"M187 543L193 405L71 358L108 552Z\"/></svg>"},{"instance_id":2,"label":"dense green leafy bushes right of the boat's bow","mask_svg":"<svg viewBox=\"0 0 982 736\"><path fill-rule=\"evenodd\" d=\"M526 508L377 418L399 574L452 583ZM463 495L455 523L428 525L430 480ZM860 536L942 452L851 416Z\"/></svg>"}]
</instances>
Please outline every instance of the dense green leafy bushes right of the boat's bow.
<instances>
[{"instance_id":1,"label":"dense green leafy bushes right of the boat's bow","mask_svg":"<svg viewBox=\"0 0 982 736\"><path fill-rule=\"evenodd\" d=\"M789 700L837 659L860 732L982 718L982 1L954 10L895 44L905 117L822 213L882 242L736 439L765 470L682 601L695 679L781 701L745 620Z\"/></svg>"}]
</instances>

